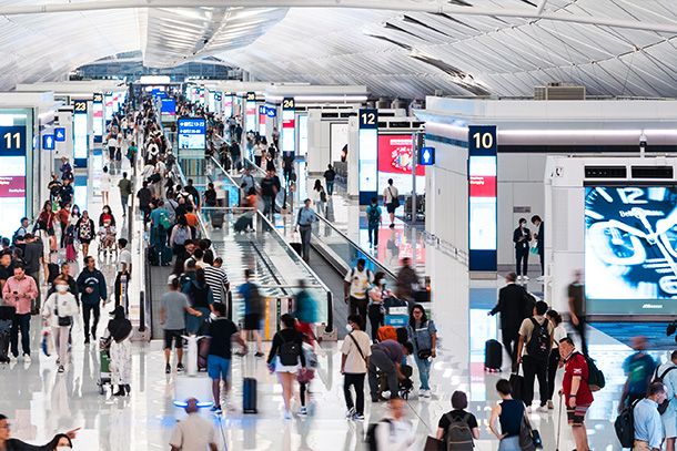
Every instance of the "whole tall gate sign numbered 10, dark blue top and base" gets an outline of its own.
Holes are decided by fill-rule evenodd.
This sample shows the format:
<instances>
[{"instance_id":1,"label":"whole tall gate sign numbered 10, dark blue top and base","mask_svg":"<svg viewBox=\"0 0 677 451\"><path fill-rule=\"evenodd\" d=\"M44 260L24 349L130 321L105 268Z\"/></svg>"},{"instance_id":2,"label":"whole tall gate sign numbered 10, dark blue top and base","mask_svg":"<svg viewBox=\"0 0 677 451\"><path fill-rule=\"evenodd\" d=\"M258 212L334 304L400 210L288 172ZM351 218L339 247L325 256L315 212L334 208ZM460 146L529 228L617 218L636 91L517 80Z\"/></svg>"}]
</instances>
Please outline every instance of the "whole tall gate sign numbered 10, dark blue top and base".
<instances>
[{"instance_id":1,"label":"whole tall gate sign numbered 10, dark blue top and base","mask_svg":"<svg viewBox=\"0 0 677 451\"><path fill-rule=\"evenodd\" d=\"M496 271L496 126L468 127L468 268Z\"/></svg>"}]
</instances>

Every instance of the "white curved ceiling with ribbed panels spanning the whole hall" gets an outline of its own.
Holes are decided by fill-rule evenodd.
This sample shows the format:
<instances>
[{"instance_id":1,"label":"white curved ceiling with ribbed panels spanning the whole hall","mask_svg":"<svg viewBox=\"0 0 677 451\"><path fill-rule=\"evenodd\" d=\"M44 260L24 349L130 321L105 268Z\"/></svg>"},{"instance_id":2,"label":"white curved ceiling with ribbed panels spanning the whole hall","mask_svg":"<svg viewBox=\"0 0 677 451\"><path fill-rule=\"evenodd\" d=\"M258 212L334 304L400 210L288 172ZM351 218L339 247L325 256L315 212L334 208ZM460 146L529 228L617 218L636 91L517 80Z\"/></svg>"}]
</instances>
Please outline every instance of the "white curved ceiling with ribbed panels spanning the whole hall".
<instances>
[{"instance_id":1,"label":"white curved ceiling with ribbed panels spanning the whole hall","mask_svg":"<svg viewBox=\"0 0 677 451\"><path fill-rule=\"evenodd\" d=\"M407 1L412 9L449 4ZM677 27L674 0L451 3L501 12L532 11L542 2L546 13ZM588 93L599 95L677 96L675 32L554 21L534 14L525 19L507 13L287 9L274 8L281 4L274 0L254 2L259 8L212 0L210 8L2 16L3 10L9 14L21 6L63 3L0 0L0 89L55 80L100 58L141 50L149 66L168 68L214 55L257 80L365 84L375 95L393 98L423 98L436 90L456 95L531 95L534 85L550 81L583 84ZM79 0L69 3L78 8ZM203 4L199 0L183 3ZM402 1L397 3L402 8ZM88 8L89 3L81 4ZM290 4L295 3L284 3ZM388 0L378 2L380 8L388 4Z\"/></svg>"}]
</instances>

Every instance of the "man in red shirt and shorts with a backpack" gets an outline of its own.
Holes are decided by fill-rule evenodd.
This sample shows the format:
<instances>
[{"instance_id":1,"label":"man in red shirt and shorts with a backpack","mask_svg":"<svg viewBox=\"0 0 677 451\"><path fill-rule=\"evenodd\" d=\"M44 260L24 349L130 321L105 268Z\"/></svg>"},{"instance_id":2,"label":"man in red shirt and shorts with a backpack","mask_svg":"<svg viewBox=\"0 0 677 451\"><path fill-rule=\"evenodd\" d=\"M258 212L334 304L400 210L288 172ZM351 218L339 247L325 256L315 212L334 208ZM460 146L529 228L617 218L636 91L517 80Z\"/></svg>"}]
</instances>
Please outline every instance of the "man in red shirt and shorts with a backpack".
<instances>
[{"instance_id":1,"label":"man in red shirt and shorts with a backpack","mask_svg":"<svg viewBox=\"0 0 677 451\"><path fill-rule=\"evenodd\" d=\"M589 451L587 431L583 421L593 403L593 392L587 383L588 365L568 337L559 341L559 355L565 365L559 396L564 394L566 399L566 413L576 441L576 450Z\"/></svg>"}]
</instances>

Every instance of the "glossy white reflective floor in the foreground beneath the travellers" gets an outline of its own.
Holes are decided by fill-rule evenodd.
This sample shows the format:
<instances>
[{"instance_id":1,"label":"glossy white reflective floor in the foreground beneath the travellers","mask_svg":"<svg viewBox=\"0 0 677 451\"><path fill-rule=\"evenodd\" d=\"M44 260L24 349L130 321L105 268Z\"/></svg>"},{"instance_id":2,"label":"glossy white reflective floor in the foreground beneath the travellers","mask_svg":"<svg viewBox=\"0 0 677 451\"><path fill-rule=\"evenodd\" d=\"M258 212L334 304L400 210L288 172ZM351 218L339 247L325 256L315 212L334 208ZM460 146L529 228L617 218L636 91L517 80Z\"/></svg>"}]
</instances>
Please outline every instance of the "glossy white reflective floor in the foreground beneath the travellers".
<instances>
[{"instance_id":1,"label":"glossy white reflective floor in the foreground beneath the travellers","mask_svg":"<svg viewBox=\"0 0 677 451\"><path fill-rule=\"evenodd\" d=\"M117 196L113 209L119 208ZM97 209L95 204L90 209ZM98 216L98 212L97 212ZM418 445L425 437L434 434L439 417L451 409L454 390L469 393L469 410L481 422L479 451L497 449L497 441L488 431L488 416L498 397L494 385L498 375L485 373L484 342L495 338L496 318L487 317L493 307L499 280L471 281L465 267L434 248L426 248L426 273L435 285L433 318L437 324L439 352L432 370L433 398L408 400L407 416L414 423ZM114 270L110 263L102 263L105 274ZM529 286L533 291L538 286ZM108 307L107 307L108 310ZM100 334L108 320L102 315ZM67 372L57 373L55 357L39 356L41 321L32 320L33 360L22 359L0 366L0 412L12 423L12 435L44 443L53 433L82 428L75 441L75 450L166 450L169 437L176 420L184 413L173 406L174 400L194 396L211 400L206 375L195 377L164 373L161 341L133 344L132 394L115 398L99 394L99 357L95 347L85 347L82 334L74 330L72 362ZM597 451L619 450L613 429L618 397L624 382L620 362L630 349L609 335L590 330L590 353L598 359L607 377L607 387L596 393L596 401L588 412L588 434L592 448ZM220 428L221 450L355 450L361 449L370 421L383 414L382 404L367 402L367 421L355 423L344 420L342 377L338 373L340 344L325 344L319 350L320 369L311 385L312 403L307 418L282 418L281 387L275 377L267 373L263 359L247 357L233 360L234 413L212 418ZM665 350L653 352L665 358ZM507 362L507 356L504 356ZM412 362L413 363L413 362ZM413 363L414 365L414 363ZM259 378L259 407L255 416L241 413L242 375L255 373ZM507 365L503 375L507 376ZM532 416L534 426L542 433L545 450L555 450L557 432L557 404L549 413ZM566 424L562 427L560 450L574 449Z\"/></svg>"}]
</instances>

